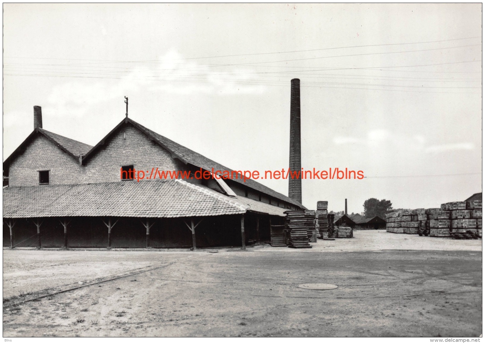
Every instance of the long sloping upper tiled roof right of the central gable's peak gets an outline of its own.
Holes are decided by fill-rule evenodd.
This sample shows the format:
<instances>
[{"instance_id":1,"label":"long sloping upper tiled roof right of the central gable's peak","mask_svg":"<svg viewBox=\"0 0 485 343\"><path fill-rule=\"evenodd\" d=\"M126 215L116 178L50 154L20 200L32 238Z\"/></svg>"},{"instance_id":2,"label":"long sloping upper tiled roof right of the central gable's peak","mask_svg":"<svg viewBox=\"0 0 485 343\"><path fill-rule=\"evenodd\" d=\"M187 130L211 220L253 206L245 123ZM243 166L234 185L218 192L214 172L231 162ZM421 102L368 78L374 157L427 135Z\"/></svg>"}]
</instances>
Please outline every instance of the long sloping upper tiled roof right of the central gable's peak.
<instances>
[{"instance_id":1,"label":"long sloping upper tiled roof right of the central gable's peak","mask_svg":"<svg viewBox=\"0 0 485 343\"><path fill-rule=\"evenodd\" d=\"M166 146L169 148L172 152L177 154L178 156L182 157L185 162L188 162L190 164L193 164L196 167L203 168L205 170L210 171L212 168L214 170L221 170L221 171L229 171L231 172L232 170L223 166L222 164L219 164L217 162L212 161L211 159L207 158L206 156L200 155L193 150L186 148L173 140L169 140L168 138L159 135L155 131L150 130L149 128L146 128L145 126L138 124L137 122L128 119L129 122L131 122L133 125L138 126L142 130L145 130L151 137L153 137L155 140L157 140L161 145ZM264 194L271 195L275 197L276 199L283 200L288 203L292 203L294 205L297 205L299 207L303 207L301 203L295 202L291 200L289 197L286 195L283 195L281 193L276 192L275 190L266 187L264 185L261 185L259 182L254 181L253 179L248 179L246 182L244 182L241 179L233 179L233 181L236 181L242 185L245 185L247 187L251 187L253 189L259 190L260 192ZM303 207L305 208L305 207Z\"/></svg>"}]
</instances>

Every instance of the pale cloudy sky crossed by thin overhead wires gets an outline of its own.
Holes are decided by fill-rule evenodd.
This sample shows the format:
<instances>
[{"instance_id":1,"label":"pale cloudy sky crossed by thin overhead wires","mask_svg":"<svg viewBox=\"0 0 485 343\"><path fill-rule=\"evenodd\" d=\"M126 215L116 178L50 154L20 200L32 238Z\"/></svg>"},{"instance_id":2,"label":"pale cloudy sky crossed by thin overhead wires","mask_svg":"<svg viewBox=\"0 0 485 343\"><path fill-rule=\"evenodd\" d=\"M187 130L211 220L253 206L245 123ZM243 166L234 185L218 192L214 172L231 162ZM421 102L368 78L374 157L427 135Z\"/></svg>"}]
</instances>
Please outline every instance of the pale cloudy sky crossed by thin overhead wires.
<instances>
[{"instance_id":1,"label":"pale cloudy sky crossed by thin overhead wires","mask_svg":"<svg viewBox=\"0 0 485 343\"><path fill-rule=\"evenodd\" d=\"M481 4L3 4L3 159L44 128L94 145L125 115L229 168L288 167L303 204L437 207L482 191ZM156 166L155 166L156 167ZM288 180L263 180L288 194Z\"/></svg>"}]
</instances>

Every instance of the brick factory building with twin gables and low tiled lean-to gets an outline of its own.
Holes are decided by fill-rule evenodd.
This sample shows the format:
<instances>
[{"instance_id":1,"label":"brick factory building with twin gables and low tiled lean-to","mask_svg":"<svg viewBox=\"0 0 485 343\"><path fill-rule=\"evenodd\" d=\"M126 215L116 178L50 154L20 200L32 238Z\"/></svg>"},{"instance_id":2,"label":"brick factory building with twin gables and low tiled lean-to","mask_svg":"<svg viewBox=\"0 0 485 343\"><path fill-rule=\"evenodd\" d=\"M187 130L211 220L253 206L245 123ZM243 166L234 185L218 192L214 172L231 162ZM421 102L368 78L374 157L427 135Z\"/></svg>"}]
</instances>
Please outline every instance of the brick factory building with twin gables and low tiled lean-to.
<instances>
[{"instance_id":1,"label":"brick factory building with twin gables and low tiled lean-to","mask_svg":"<svg viewBox=\"0 0 485 343\"><path fill-rule=\"evenodd\" d=\"M3 245L244 247L270 240L285 211L305 209L252 179L120 177L153 167L231 171L128 115L90 146L43 129L34 106L34 130L3 162Z\"/></svg>"}]
</instances>

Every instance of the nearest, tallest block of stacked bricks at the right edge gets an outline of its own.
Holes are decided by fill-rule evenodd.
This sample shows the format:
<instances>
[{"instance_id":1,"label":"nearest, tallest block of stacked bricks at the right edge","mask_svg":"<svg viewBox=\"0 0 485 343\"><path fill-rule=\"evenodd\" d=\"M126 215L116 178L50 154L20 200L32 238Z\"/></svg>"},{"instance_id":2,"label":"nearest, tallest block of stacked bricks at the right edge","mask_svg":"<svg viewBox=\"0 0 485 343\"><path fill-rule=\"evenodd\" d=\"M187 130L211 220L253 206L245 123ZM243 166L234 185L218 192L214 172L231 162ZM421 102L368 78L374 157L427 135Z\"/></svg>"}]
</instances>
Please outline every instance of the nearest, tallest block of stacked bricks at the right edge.
<instances>
[{"instance_id":1,"label":"nearest, tallest block of stacked bricks at the right edge","mask_svg":"<svg viewBox=\"0 0 485 343\"><path fill-rule=\"evenodd\" d=\"M444 203L450 211L450 237L455 239L477 239L482 237L482 201Z\"/></svg>"}]
</instances>

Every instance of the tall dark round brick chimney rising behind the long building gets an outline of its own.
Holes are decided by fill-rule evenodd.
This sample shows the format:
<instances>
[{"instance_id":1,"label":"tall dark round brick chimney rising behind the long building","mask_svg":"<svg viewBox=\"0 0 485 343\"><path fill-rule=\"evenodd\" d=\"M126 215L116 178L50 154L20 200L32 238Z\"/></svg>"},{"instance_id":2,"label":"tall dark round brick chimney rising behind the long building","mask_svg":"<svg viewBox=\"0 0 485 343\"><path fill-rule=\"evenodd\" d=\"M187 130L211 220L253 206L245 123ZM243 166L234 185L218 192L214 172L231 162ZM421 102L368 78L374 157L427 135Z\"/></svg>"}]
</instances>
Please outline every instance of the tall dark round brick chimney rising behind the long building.
<instances>
[{"instance_id":1,"label":"tall dark round brick chimney rising behind the long building","mask_svg":"<svg viewBox=\"0 0 485 343\"><path fill-rule=\"evenodd\" d=\"M290 104L290 170L302 170L302 149L300 131L300 79L291 80L291 104ZM301 178L288 179L288 196L291 200L302 203L302 180Z\"/></svg>"}]
</instances>

